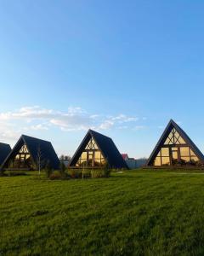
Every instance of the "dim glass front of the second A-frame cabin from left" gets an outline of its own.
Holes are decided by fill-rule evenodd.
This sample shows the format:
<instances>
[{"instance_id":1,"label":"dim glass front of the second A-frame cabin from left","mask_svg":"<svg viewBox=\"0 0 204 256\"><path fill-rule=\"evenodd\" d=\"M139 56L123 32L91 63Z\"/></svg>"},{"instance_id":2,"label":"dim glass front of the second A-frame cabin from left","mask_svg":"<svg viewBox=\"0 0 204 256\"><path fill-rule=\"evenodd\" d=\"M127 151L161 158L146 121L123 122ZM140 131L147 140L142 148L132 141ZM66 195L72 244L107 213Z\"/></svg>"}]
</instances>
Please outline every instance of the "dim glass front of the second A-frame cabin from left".
<instances>
[{"instance_id":1,"label":"dim glass front of the second A-frame cabin from left","mask_svg":"<svg viewBox=\"0 0 204 256\"><path fill-rule=\"evenodd\" d=\"M26 145L23 145L19 152L9 160L8 168L32 169L31 154L28 152Z\"/></svg>"}]
</instances>

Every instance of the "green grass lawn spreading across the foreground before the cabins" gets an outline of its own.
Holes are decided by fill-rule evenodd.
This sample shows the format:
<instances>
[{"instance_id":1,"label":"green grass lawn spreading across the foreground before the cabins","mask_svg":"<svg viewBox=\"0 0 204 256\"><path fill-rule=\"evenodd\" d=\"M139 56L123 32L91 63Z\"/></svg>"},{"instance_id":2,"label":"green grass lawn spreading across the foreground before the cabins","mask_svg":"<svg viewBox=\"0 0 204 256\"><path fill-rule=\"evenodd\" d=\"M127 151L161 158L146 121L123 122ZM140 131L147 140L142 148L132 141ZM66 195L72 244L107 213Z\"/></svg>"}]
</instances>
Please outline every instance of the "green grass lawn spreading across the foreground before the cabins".
<instances>
[{"instance_id":1,"label":"green grass lawn spreading across the foreground before the cabins","mask_svg":"<svg viewBox=\"0 0 204 256\"><path fill-rule=\"evenodd\" d=\"M0 255L204 255L204 174L0 177Z\"/></svg>"}]
</instances>

